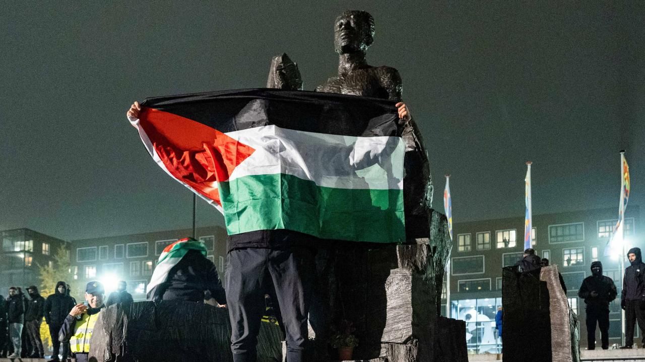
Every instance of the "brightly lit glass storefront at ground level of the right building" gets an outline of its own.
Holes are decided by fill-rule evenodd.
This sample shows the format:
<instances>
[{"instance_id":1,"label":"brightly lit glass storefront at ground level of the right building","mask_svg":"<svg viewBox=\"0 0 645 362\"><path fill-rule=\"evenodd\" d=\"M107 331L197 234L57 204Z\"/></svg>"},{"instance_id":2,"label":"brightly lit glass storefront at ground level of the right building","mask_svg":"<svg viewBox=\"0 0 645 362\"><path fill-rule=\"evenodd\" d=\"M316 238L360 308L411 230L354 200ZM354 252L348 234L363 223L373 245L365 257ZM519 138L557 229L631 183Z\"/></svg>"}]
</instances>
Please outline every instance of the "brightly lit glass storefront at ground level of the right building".
<instances>
[{"instance_id":1,"label":"brightly lit glass storefront at ground level of the right building","mask_svg":"<svg viewBox=\"0 0 645 362\"><path fill-rule=\"evenodd\" d=\"M495 329L495 314L502 298L451 301L452 318L466 321L466 347L469 354L501 353L502 341Z\"/></svg>"}]
</instances>

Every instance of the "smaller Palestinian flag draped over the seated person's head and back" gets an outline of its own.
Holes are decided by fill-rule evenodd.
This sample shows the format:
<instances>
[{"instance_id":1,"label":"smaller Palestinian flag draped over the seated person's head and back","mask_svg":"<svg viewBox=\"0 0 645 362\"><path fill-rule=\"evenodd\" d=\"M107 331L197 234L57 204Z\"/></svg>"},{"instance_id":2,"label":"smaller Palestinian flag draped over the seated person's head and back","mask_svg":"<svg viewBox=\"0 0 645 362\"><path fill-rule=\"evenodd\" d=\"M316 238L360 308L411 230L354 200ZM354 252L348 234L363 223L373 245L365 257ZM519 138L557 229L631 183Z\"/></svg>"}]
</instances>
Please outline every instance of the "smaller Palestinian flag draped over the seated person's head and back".
<instances>
[{"instance_id":1,"label":"smaller Palestinian flag draped over the seated person's head and back","mask_svg":"<svg viewBox=\"0 0 645 362\"><path fill-rule=\"evenodd\" d=\"M179 260L190 250L198 250L203 254L204 258L206 257L207 251L204 243L198 242L194 238L179 239L163 249L163 252L159 255L159 260L157 260L157 266L152 272L152 277L150 277L150 283L146 287L148 300L161 300L162 296L160 294L163 289L159 289L159 285L166 282L170 269L177 265Z\"/></svg>"}]
</instances>

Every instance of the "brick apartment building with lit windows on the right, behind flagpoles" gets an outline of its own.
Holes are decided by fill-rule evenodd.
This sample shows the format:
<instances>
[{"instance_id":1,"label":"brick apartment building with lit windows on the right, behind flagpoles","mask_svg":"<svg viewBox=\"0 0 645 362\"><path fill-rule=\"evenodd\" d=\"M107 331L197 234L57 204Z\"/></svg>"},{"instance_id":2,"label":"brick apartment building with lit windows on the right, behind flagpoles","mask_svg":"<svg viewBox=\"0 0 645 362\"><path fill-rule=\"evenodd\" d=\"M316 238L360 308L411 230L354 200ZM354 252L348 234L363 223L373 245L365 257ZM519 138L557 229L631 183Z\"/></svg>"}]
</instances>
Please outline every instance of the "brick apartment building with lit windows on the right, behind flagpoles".
<instances>
[{"instance_id":1,"label":"brick apartment building with lit windows on the right, behind flagpoles","mask_svg":"<svg viewBox=\"0 0 645 362\"><path fill-rule=\"evenodd\" d=\"M581 321L581 346L586 346L584 300L578 297L582 280L591 275L591 262L600 260L604 275L610 276L619 298L610 305L610 343L620 344L620 258L619 248L608 247L617 222L617 208L533 215L533 249L551 265L557 265L568 289L571 308ZM639 207L626 213L624 245L645 247L640 231ZM501 269L515 265L524 250L524 218L505 218L457 223L450 263L450 316L466 321L469 353L499 353L501 341L495 333L495 313L502 305ZM446 314L446 283L442 311ZM638 335L639 332L636 332ZM597 338L599 341L600 338Z\"/></svg>"}]
</instances>

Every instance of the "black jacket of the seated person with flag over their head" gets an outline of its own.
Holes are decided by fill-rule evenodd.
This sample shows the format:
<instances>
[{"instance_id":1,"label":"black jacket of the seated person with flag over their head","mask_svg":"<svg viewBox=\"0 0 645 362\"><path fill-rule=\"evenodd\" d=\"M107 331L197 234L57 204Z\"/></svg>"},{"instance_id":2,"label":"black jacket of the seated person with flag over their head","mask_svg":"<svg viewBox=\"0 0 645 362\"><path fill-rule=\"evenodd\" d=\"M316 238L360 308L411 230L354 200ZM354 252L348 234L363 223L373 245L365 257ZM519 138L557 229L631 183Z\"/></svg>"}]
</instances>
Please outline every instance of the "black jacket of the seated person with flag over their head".
<instances>
[{"instance_id":1,"label":"black jacket of the seated person with flag over their head","mask_svg":"<svg viewBox=\"0 0 645 362\"><path fill-rule=\"evenodd\" d=\"M197 250L186 252L170 269L166 282L159 288L162 300L204 301L204 292L210 291L217 303L226 304L226 294L215 264Z\"/></svg>"}]
</instances>

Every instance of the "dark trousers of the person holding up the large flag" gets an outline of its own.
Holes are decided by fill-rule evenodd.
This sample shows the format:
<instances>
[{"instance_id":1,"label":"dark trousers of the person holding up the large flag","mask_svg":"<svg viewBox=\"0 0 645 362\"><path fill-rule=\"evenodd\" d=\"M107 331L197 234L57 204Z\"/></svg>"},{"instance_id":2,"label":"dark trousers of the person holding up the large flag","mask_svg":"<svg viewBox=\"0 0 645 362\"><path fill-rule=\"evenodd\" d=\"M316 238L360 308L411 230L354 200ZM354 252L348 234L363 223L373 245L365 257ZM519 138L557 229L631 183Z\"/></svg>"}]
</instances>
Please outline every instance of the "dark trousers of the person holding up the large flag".
<instances>
[{"instance_id":1,"label":"dark trousers of the person holding up the large flag","mask_svg":"<svg viewBox=\"0 0 645 362\"><path fill-rule=\"evenodd\" d=\"M231 320L234 362L255 362L257 335L266 311L264 294L273 294L282 314L288 362L302 362L314 272L313 252L236 249L228 253L226 305ZM269 293L269 291L275 293Z\"/></svg>"}]
</instances>

